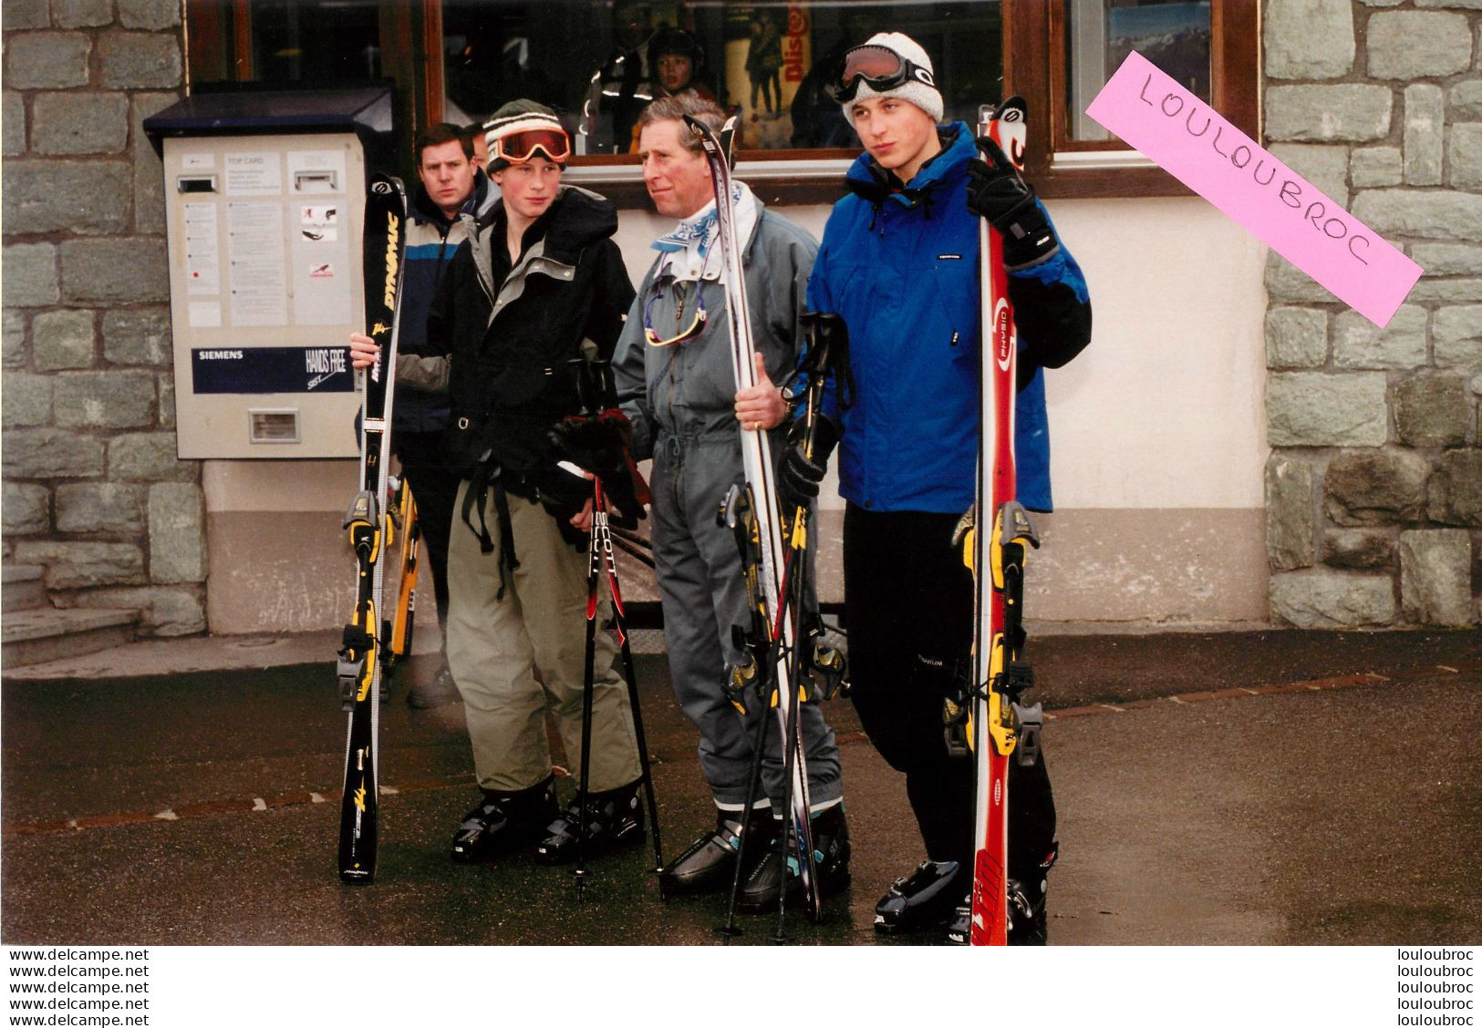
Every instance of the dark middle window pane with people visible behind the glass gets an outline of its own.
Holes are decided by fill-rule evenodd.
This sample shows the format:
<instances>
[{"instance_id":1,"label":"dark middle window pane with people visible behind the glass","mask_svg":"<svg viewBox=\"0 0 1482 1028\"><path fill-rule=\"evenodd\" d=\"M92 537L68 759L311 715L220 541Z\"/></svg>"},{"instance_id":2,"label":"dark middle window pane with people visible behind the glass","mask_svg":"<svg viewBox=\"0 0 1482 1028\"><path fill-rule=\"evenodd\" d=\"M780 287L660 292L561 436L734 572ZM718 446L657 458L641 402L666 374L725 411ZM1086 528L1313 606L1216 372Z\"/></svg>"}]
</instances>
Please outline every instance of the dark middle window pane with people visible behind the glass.
<instances>
[{"instance_id":1,"label":"dark middle window pane with people visible behind the glass","mask_svg":"<svg viewBox=\"0 0 1482 1028\"><path fill-rule=\"evenodd\" d=\"M683 90L738 113L751 157L854 151L823 86L846 49L886 25L932 55L948 117L971 120L1003 80L999 0L443 0L442 21L449 120L526 96L576 129L584 156L633 153L643 105Z\"/></svg>"}]
</instances>

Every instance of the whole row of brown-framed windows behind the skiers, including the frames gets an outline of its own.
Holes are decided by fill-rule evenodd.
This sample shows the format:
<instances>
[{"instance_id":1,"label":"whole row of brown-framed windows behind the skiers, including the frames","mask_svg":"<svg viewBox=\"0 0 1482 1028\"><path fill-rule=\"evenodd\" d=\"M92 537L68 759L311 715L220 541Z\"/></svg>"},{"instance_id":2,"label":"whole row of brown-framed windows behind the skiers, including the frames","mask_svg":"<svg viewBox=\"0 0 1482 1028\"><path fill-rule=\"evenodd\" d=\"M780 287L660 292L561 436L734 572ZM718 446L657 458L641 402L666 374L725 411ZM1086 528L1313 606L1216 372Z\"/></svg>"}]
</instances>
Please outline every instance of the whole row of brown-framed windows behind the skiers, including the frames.
<instances>
[{"instance_id":1,"label":"whole row of brown-framed windows behind the skiers, including the frames","mask_svg":"<svg viewBox=\"0 0 1482 1028\"><path fill-rule=\"evenodd\" d=\"M572 179L645 203L633 123L655 90L697 89L742 119L771 201L833 200L858 141L821 92L845 49L901 31L931 53L948 119L1029 101L1043 196L1186 190L1082 111L1131 49L1255 136L1255 0L187 0L193 81L390 79L403 150L430 121L517 96L575 133ZM408 157L409 163L409 157Z\"/></svg>"}]
</instances>

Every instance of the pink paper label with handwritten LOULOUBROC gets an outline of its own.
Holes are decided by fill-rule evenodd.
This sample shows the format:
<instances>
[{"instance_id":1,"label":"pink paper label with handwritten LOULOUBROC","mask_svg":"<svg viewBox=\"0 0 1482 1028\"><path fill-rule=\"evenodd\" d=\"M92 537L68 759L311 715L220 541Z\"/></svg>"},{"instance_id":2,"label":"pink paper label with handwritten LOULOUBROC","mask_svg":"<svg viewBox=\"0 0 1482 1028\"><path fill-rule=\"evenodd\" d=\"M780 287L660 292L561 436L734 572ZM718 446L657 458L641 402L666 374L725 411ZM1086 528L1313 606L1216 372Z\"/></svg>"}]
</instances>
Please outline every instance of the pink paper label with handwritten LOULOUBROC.
<instances>
[{"instance_id":1,"label":"pink paper label with handwritten LOULOUBROC","mask_svg":"<svg viewBox=\"0 0 1482 1028\"><path fill-rule=\"evenodd\" d=\"M1140 53L1128 55L1086 114L1380 327L1421 276L1418 264Z\"/></svg>"}]
</instances>

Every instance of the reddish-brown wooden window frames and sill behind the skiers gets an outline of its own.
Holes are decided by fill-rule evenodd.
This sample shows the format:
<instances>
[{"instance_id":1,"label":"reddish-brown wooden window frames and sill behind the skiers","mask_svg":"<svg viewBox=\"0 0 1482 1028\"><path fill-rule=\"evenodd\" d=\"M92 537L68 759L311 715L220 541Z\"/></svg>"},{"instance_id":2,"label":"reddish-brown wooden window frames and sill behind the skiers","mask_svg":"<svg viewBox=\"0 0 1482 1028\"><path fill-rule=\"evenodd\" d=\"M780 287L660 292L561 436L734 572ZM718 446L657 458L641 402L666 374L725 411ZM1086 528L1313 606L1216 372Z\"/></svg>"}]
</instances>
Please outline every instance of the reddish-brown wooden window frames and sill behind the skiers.
<instances>
[{"instance_id":1,"label":"reddish-brown wooden window frames and sill behind the skiers","mask_svg":"<svg viewBox=\"0 0 1482 1028\"><path fill-rule=\"evenodd\" d=\"M1018 93L1029 104L1026 176L1039 194L1189 196L1183 184L1120 141L1069 138L1066 4L1071 0L1000 1L1005 95ZM187 89L196 79L250 81L252 0L185 0L185 12ZM396 116L409 126L399 151L409 151L422 126L442 120L442 0L381 0L379 27L382 70L396 83ZM1260 139L1258 28L1257 0L1211 0L1212 107L1252 139ZM855 156L858 150L742 151L737 172L768 203L831 203L842 196L843 172ZM631 154L576 158L568 178L600 188L618 206L648 206Z\"/></svg>"}]
</instances>

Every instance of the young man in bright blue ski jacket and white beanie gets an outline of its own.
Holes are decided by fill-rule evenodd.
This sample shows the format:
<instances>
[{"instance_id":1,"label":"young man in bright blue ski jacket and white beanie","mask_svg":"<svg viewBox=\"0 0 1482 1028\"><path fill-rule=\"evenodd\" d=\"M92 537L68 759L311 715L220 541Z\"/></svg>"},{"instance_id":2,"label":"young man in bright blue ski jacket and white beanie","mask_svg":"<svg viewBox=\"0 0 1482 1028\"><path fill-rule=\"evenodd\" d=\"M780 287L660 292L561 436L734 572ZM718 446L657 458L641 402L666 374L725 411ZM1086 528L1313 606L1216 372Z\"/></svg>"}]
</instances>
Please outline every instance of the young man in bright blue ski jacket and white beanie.
<instances>
[{"instance_id":1,"label":"young man in bright blue ski jacket and white beanie","mask_svg":"<svg viewBox=\"0 0 1482 1028\"><path fill-rule=\"evenodd\" d=\"M814 459L787 453L784 505L818 492L839 446L845 609L854 702L880 755L906 773L926 861L891 886L876 929L943 929L966 939L974 761L951 757L943 699L972 646L975 585L951 545L974 504L978 459L978 224L1005 236L1018 324L1018 499L1051 510L1040 367L1091 336L1085 278L1043 206L1002 153L962 121L940 124L931 59L879 33L845 55L836 96L865 153L828 218L808 284L815 311L843 317L855 401L825 404ZM981 153L980 153L981 151ZM1011 770L1011 941L1042 942L1055 809L1043 758Z\"/></svg>"}]
</instances>

